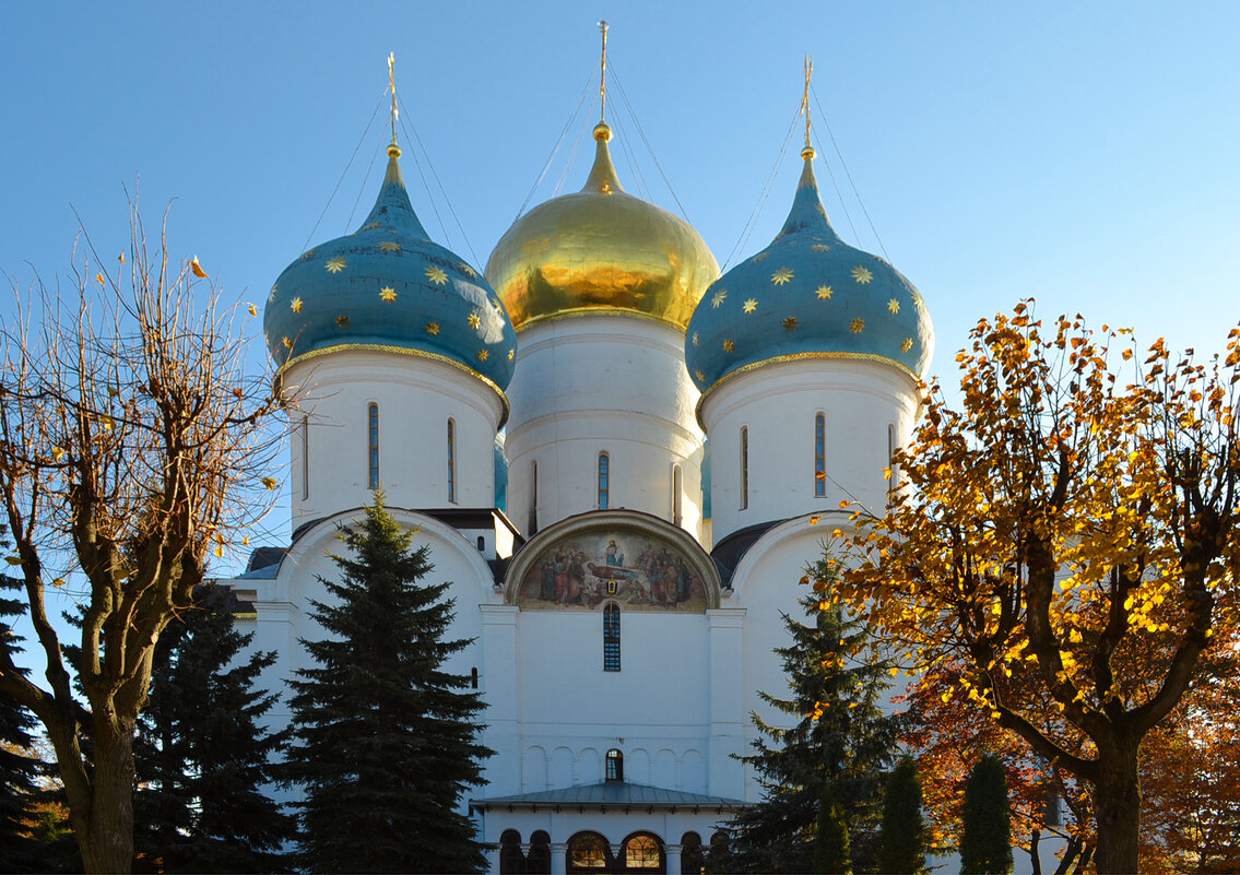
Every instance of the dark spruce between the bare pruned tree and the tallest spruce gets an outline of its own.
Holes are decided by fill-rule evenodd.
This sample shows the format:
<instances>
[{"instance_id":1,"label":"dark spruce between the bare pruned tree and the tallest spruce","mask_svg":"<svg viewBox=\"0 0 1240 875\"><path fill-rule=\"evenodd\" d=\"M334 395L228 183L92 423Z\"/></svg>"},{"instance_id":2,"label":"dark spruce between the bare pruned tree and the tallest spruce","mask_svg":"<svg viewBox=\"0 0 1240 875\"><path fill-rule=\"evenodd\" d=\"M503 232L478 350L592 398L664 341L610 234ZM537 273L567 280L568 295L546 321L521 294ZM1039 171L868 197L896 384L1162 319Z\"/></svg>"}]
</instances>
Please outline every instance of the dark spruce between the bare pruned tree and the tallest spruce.
<instances>
[{"instance_id":1,"label":"dark spruce between the bare pruned tree and the tallest spruce","mask_svg":"<svg viewBox=\"0 0 1240 875\"><path fill-rule=\"evenodd\" d=\"M160 637L134 745L135 868L273 871L296 829L264 787L288 732L260 726L277 697L254 689L274 653L238 662L252 635L233 627L236 596L202 587Z\"/></svg>"}]
</instances>

